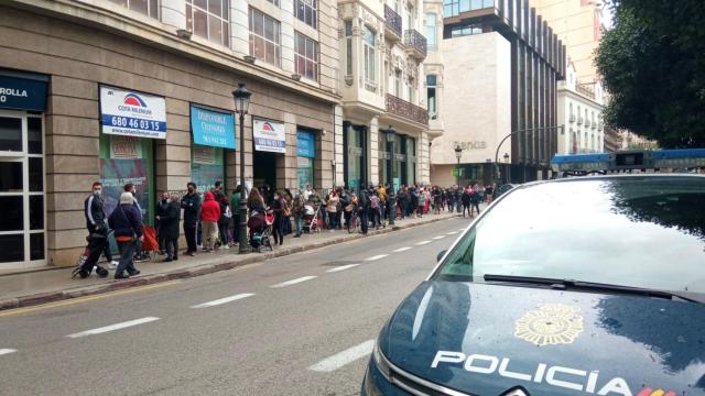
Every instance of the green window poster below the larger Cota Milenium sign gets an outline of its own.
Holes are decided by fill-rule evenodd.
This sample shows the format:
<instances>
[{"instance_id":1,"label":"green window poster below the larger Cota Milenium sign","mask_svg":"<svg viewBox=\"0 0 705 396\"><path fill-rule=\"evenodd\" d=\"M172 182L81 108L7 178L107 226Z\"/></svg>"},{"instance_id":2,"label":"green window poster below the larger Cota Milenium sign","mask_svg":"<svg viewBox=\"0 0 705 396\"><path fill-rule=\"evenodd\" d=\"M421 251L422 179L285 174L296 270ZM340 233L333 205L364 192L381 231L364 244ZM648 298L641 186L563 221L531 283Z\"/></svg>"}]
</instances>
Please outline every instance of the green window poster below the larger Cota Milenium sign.
<instances>
[{"instance_id":1,"label":"green window poster below the larger Cota Milenium sign","mask_svg":"<svg viewBox=\"0 0 705 396\"><path fill-rule=\"evenodd\" d=\"M142 219L149 219L150 184L148 160L100 160L100 183L106 215L110 216L120 202L120 194L128 183L137 190L137 200L142 209ZM147 221L147 220L144 220Z\"/></svg>"}]
</instances>

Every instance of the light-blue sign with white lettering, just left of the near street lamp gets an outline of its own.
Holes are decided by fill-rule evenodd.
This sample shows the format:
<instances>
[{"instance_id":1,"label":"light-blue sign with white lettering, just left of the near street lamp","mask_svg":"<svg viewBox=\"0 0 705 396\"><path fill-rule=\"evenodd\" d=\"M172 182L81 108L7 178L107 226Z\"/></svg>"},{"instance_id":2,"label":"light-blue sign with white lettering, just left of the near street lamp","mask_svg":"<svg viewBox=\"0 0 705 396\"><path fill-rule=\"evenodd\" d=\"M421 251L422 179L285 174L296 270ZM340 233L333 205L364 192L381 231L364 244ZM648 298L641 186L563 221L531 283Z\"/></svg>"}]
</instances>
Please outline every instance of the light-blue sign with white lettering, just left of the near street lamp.
<instances>
[{"instance_id":1,"label":"light-blue sign with white lettering, just left of the near street lamp","mask_svg":"<svg viewBox=\"0 0 705 396\"><path fill-rule=\"evenodd\" d=\"M232 113L191 107L191 129L194 143L213 147L235 148Z\"/></svg>"}]
</instances>

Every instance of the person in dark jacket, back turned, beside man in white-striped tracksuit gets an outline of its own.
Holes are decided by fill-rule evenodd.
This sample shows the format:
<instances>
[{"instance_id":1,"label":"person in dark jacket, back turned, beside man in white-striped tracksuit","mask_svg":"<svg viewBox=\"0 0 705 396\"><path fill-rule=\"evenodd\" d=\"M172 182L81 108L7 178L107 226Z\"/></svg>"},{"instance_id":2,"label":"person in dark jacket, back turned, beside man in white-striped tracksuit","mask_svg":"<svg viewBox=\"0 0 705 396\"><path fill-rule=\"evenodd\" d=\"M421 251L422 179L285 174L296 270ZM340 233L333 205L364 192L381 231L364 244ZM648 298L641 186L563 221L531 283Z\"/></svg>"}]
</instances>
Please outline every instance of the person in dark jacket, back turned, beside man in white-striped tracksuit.
<instances>
[{"instance_id":1,"label":"person in dark jacket, back turned, beside man in white-striped tracksuit","mask_svg":"<svg viewBox=\"0 0 705 396\"><path fill-rule=\"evenodd\" d=\"M115 239L120 249L120 263L115 272L116 279L127 279L140 274L140 271L134 267L137 242L144 238L140 220L141 216L134 206L134 197L128 191L122 193L120 205L108 218L108 223L115 230Z\"/></svg>"}]
</instances>

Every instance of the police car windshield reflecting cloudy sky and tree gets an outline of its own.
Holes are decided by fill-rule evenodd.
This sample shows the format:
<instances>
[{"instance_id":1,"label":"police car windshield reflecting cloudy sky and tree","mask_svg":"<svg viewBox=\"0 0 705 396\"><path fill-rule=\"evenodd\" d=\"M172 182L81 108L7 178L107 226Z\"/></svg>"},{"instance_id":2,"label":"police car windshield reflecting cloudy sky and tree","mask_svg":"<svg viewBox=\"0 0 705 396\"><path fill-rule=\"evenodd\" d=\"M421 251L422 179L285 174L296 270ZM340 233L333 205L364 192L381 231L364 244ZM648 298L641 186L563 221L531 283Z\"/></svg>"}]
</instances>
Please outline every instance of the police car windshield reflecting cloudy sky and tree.
<instances>
[{"instance_id":1,"label":"police car windshield reflecting cloudy sky and tree","mask_svg":"<svg viewBox=\"0 0 705 396\"><path fill-rule=\"evenodd\" d=\"M517 188L435 279L485 274L705 294L705 177L590 177Z\"/></svg>"}]
</instances>

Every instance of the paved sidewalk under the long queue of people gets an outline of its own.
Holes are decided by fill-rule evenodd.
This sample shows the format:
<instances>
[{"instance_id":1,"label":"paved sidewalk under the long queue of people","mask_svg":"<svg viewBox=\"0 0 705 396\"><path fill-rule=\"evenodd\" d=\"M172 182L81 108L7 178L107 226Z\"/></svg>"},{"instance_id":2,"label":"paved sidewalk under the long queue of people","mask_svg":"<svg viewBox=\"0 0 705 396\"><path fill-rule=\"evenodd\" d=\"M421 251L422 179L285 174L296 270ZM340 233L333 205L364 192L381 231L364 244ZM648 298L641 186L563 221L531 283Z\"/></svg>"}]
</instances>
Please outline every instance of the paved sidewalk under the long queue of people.
<instances>
[{"instance_id":1,"label":"paved sidewalk under the long queue of people","mask_svg":"<svg viewBox=\"0 0 705 396\"><path fill-rule=\"evenodd\" d=\"M160 260L163 256L158 256L156 262L137 264L141 274L124 280L113 279L113 271L110 272L110 276L107 278L99 278L95 273L86 279L72 278L73 267L4 275L0 276L0 310L206 275L272 257L429 224L453 218L456 215L443 212L441 215L426 215L421 219L397 220L393 228L388 226L386 229L370 230L367 237L359 233L350 234L346 230L335 232L322 230L321 233L304 234L302 238L286 237L284 245L274 248L273 252L267 250L264 253L239 255L236 246L235 249L221 250L215 253L197 253L195 257L180 255L178 261L170 263L161 263Z\"/></svg>"}]
</instances>

